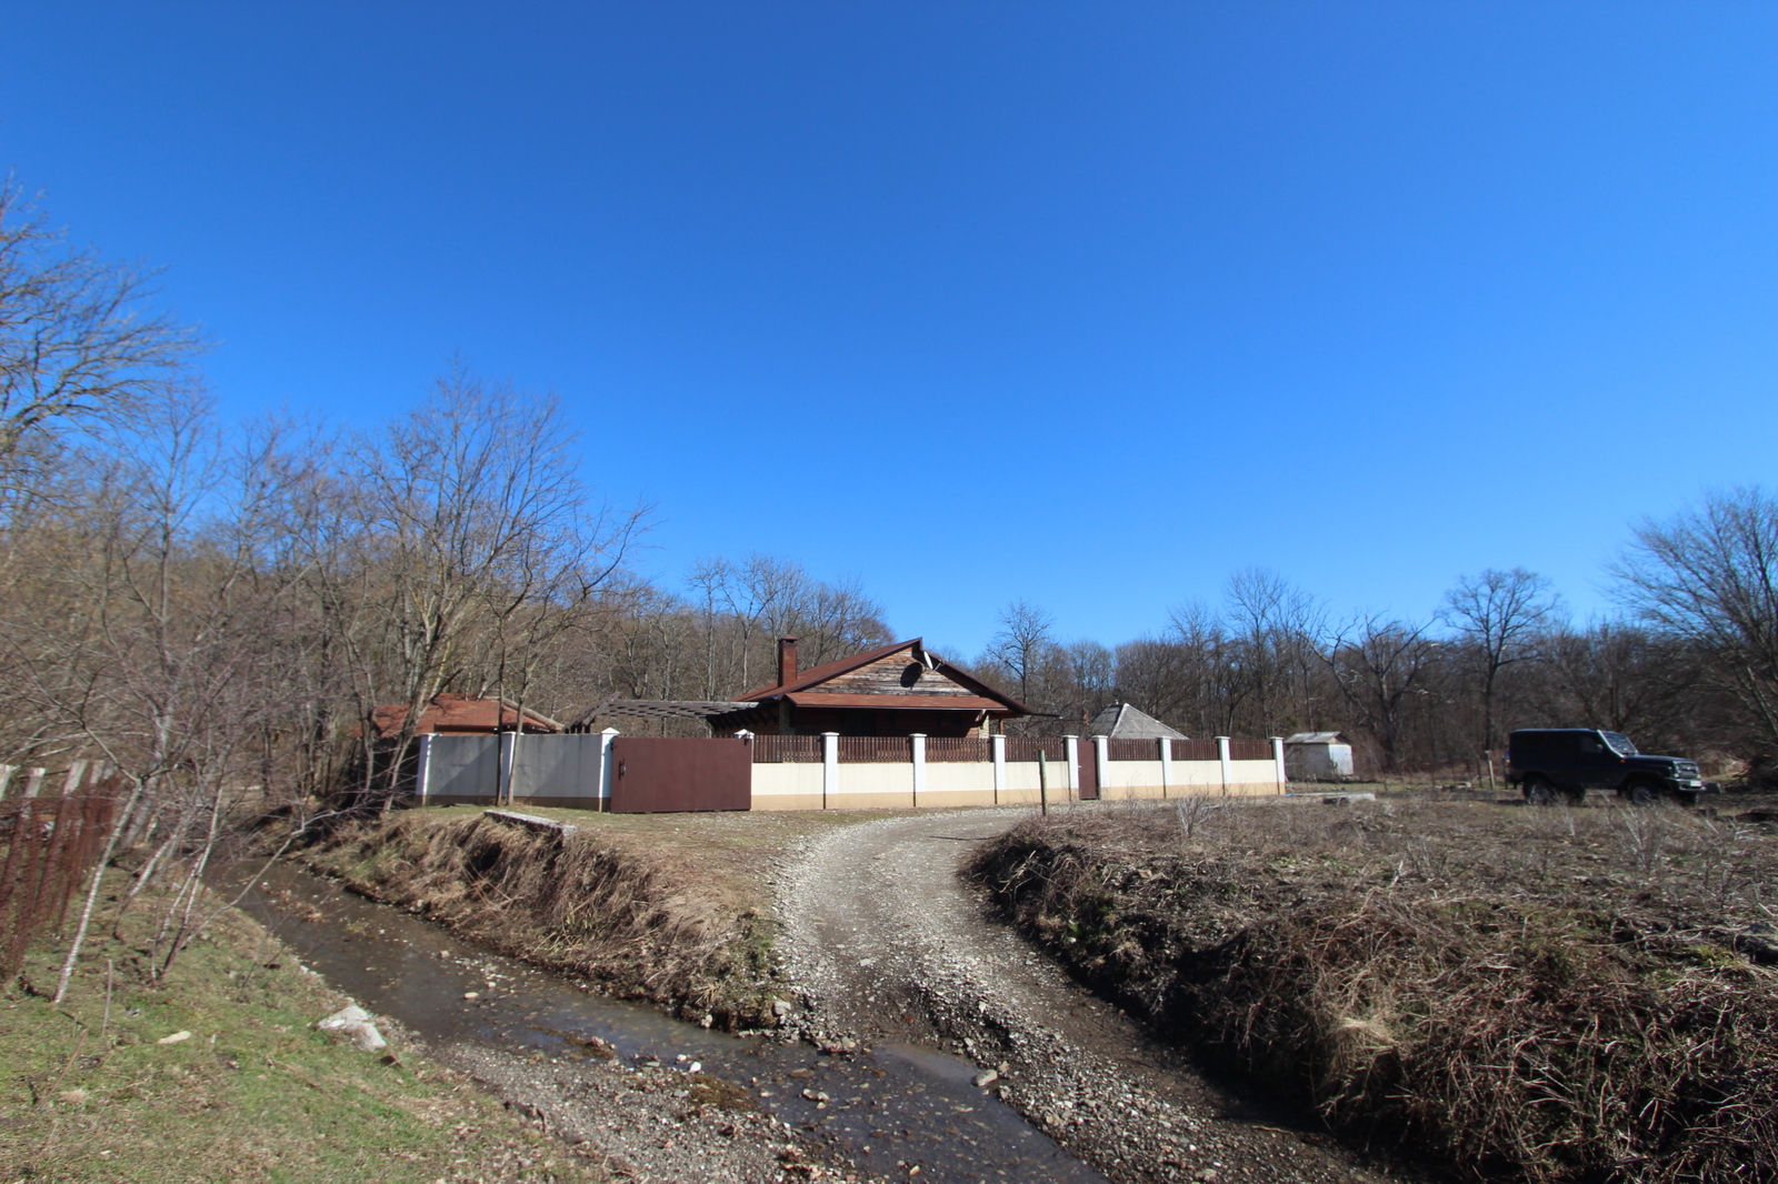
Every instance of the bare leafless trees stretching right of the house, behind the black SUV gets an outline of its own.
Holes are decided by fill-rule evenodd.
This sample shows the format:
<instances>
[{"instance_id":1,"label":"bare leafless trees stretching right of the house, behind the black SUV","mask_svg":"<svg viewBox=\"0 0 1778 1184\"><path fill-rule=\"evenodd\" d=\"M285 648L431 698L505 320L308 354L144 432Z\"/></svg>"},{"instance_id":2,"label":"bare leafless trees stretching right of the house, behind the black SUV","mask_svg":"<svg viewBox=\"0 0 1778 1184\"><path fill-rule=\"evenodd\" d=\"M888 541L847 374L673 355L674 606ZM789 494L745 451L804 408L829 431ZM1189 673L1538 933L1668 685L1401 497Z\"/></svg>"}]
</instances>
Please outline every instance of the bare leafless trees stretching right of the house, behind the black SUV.
<instances>
[{"instance_id":1,"label":"bare leafless trees stretching right of the house, behind the black SUV","mask_svg":"<svg viewBox=\"0 0 1778 1184\"><path fill-rule=\"evenodd\" d=\"M1575 622L1533 572L1485 571L1437 612L1334 617L1268 571L1154 636L1061 644L1019 601L976 672L1077 732L1131 702L1189 736L1344 731L1373 772L1485 768L1515 727L1604 727L1730 772L1778 754L1778 503L1757 489L1634 530L1622 612Z\"/></svg>"}]
</instances>

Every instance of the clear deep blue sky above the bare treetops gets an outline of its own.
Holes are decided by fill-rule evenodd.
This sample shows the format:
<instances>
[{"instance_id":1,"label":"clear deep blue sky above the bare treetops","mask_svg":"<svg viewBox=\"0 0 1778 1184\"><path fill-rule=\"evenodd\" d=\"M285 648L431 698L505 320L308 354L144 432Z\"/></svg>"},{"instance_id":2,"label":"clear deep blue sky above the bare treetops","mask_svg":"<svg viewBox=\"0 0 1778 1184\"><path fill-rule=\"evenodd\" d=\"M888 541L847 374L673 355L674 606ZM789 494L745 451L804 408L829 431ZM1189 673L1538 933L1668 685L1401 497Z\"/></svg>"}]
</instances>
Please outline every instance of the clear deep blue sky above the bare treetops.
<instances>
[{"instance_id":1,"label":"clear deep blue sky above the bare treetops","mask_svg":"<svg viewBox=\"0 0 1778 1184\"><path fill-rule=\"evenodd\" d=\"M16 4L0 165L167 268L224 409L557 391L644 564L971 654L1271 567L1582 610L1771 482L1778 7Z\"/></svg>"}]
</instances>

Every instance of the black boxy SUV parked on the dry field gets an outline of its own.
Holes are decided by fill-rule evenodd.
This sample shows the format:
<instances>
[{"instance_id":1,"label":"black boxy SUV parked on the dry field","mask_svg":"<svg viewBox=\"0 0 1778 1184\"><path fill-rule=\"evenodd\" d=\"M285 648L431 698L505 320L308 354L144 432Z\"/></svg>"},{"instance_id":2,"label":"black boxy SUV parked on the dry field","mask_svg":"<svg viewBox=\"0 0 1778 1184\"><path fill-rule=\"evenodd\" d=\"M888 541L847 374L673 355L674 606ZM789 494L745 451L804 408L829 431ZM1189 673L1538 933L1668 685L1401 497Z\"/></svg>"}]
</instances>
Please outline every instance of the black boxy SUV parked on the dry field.
<instances>
[{"instance_id":1,"label":"black boxy SUV parked on the dry field","mask_svg":"<svg viewBox=\"0 0 1778 1184\"><path fill-rule=\"evenodd\" d=\"M1622 732L1538 727L1513 732L1506 745L1506 784L1520 786L1533 805L1547 805L1558 793L1579 802L1588 789L1613 789L1639 804L1677 798L1689 805L1700 793L1719 789L1700 779L1696 761L1643 756Z\"/></svg>"}]
</instances>

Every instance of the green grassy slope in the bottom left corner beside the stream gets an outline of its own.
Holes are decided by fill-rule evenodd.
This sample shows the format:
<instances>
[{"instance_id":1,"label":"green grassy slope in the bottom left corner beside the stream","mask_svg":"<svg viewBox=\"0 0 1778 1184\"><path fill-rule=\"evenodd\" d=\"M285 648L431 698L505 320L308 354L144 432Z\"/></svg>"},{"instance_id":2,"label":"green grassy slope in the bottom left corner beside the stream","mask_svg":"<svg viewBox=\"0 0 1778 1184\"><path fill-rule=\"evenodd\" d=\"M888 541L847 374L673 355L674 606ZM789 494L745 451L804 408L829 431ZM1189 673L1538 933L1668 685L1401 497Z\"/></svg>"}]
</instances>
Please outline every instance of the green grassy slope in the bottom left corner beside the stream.
<instances>
[{"instance_id":1,"label":"green grassy slope in the bottom left corner beside the stream","mask_svg":"<svg viewBox=\"0 0 1778 1184\"><path fill-rule=\"evenodd\" d=\"M318 1033L345 999L242 914L151 985L156 923L137 900L123 940L91 939L64 1006L0 997L0 1180L605 1179L412 1049L391 1065ZM53 985L62 949L39 944L27 981Z\"/></svg>"}]
</instances>

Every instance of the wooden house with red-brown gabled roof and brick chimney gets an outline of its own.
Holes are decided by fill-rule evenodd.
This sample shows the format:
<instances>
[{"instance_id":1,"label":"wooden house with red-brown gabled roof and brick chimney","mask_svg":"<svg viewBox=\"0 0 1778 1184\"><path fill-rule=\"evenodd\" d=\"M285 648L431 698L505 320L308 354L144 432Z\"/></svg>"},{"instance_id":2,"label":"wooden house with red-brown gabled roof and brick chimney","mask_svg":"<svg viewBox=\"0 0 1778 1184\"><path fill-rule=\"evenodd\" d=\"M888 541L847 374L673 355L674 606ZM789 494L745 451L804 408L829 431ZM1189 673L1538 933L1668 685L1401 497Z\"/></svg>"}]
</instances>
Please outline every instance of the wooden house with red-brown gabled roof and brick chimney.
<instances>
[{"instance_id":1,"label":"wooden house with red-brown gabled roof and brick chimney","mask_svg":"<svg viewBox=\"0 0 1778 1184\"><path fill-rule=\"evenodd\" d=\"M797 638L779 642L779 679L740 695L734 711L708 716L711 732L761 736L983 736L994 720L1031 709L925 647L894 642L807 670Z\"/></svg>"}]
</instances>

